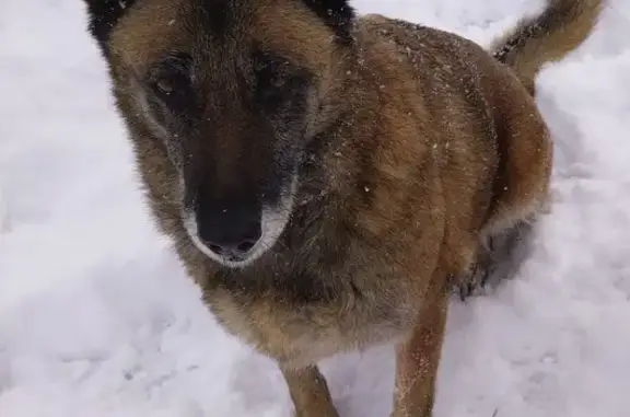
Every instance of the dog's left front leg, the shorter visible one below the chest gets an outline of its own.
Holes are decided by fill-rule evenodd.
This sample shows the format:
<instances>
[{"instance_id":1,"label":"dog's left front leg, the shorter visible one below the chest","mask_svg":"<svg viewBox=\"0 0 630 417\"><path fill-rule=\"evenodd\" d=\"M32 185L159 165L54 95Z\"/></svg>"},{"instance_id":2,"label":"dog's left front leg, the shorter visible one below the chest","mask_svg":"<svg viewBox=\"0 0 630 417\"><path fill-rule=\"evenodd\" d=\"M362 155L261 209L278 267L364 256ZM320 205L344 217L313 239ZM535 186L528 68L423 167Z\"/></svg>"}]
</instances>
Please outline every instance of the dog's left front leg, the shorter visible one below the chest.
<instances>
[{"instance_id":1,"label":"dog's left front leg, the shorter visible one below the chest","mask_svg":"<svg viewBox=\"0 0 630 417\"><path fill-rule=\"evenodd\" d=\"M280 366L280 369L295 406L295 417L339 417L326 379L316 366L302 369Z\"/></svg>"}]
</instances>

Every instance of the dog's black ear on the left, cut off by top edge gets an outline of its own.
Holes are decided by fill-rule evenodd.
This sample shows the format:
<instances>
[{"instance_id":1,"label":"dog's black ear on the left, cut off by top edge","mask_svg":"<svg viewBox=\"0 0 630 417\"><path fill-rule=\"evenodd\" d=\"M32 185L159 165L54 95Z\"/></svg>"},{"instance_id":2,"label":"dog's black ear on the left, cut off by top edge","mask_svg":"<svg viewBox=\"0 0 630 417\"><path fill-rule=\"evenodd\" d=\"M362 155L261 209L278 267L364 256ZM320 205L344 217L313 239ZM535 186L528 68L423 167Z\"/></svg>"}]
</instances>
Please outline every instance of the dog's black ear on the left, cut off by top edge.
<instances>
[{"instance_id":1,"label":"dog's black ear on the left, cut off by top edge","mask_svg":"<svg viewBox=\"0 0 630 417\"><path fill-rule=\"evenodd\" d=\"M136 0L84 0L90 19L89 30L98 45L106 53L109 33L116 23L133 5Z\"/></svg>"}]
</instances>

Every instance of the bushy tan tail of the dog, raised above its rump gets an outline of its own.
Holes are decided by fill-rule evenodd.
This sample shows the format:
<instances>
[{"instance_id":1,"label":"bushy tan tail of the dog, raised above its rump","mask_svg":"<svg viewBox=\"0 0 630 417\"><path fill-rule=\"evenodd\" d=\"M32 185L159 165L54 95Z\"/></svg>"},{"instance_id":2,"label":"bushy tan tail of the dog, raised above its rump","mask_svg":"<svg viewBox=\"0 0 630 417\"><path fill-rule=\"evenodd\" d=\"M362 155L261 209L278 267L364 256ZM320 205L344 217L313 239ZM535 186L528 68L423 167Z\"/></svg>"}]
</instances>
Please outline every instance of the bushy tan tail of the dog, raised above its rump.
<instances>
[{"instance_id":1,"label":"bushy tan tail of the dog, raised above its rump","mask_svg":"<svg viewBox=\"0 0 630 417\"><path fill-rule=\"evenodd\" d=\"M518 22L494 40L495 59L512 67L529 93L542 65L562 59L579 47L597 23L604 0L547 0L537 16Z\"/></svg>"}]
</instances>

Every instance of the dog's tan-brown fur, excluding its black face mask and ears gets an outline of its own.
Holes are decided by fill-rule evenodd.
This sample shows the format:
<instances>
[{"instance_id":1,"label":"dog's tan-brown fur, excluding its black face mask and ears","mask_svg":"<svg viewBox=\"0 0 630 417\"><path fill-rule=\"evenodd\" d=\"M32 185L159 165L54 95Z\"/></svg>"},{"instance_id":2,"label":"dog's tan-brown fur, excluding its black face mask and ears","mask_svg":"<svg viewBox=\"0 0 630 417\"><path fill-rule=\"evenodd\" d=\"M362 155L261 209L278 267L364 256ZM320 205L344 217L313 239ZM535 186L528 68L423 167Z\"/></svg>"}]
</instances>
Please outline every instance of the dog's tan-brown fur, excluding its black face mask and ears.
<instances>
[{"instance_id":1,"label":"dog's tan-brown fur, excluding its black face mask and ears","mask_svg":"<svg viewBox=\"0 0 630 417\"><path fill-rule=\"evenodd\" d=\"M555 2L552 24L535 35L529 21L521 25L511 38L523 42L499 57L512 68L470 40L381 15L359 19L355 45L340 46L295 0L238 0L236 35L200 43L180 25L191 3L139 1L108 44L162 230L225 328L278 361L298 416L337 417L318 360L393 341L394 416L430 416L452 281L510 263L492 258L489 242L535 220L547 198L552 146L528 93L534 76L585 38L599 2ZM155 144L162 130L136 78L173 48L201 48L212 101L236 89L221 57L249 38L315 73L307 131L322 149L283 238L247 268L226 270L184 230L178 173ZM225 105L213 151L228 161L247 144L237 140L241 115Z\"/></svg>"}]
</instances>

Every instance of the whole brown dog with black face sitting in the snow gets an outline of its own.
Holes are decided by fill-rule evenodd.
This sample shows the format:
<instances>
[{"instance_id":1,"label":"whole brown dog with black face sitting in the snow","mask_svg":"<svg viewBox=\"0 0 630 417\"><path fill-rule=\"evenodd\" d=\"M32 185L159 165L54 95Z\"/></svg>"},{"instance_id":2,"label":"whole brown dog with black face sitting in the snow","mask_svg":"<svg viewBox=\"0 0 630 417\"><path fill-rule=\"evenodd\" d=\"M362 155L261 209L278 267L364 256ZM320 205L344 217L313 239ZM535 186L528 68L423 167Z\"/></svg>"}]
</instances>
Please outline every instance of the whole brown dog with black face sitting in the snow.
<instances>
[{"instance_id":1,"label":"whole brown dog with black face sitting in the snow","mask_svg":"<svg viewBox=\"0 0 630 417\"><path fill-rule=\"evenodd\" d=\"M346 0L88 0L153 213L225 328L334 417L322 358L397 343L394 416L430 416L454 280L500 268L546 200L540 66L598 0L497 42Z\"/></svg>"}]
</instances>

